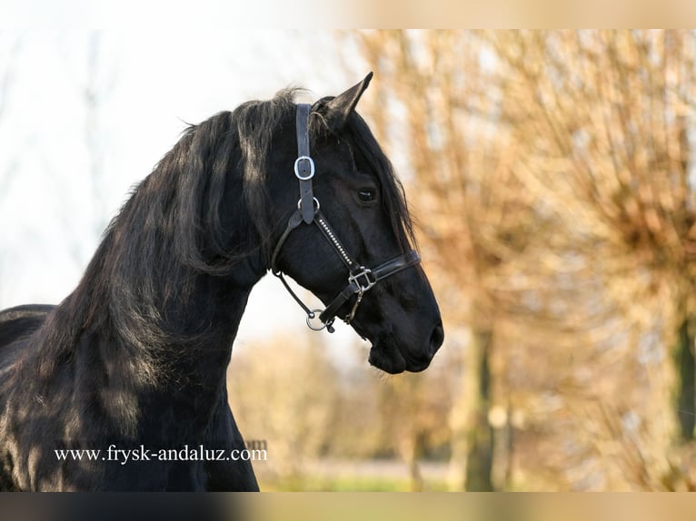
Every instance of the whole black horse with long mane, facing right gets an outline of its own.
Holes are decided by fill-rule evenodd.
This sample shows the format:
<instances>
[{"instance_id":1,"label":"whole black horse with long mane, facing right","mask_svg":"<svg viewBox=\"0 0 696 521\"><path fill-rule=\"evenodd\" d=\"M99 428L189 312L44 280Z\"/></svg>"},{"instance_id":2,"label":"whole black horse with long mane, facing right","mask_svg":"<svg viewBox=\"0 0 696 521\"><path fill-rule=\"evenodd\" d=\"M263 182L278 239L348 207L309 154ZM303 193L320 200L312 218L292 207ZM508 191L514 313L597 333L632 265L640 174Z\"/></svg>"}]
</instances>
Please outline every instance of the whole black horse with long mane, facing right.
<instances>
[{"instance_id":1,"label":"whole black horse with long mane, facing right","mask_svg":"<svg viewBox=\"0 0 696 521\"><path fill-rule=\"evenodd\" d=\"M402 186L354 111L371 76L303 121L286 90L190 127L63 302L0 313L0 489L258 489L244 459L154 456L244 449L225 372L249 293L272 263L352 321L375 367L428 367L440 313L410 251ZM303 125L313 162L298 158ZM331 328L333 317L322 321ZM100 452L59 457L68 449ZM115 450L132 451L127 463Z\"/></svg>"}]
</instances>

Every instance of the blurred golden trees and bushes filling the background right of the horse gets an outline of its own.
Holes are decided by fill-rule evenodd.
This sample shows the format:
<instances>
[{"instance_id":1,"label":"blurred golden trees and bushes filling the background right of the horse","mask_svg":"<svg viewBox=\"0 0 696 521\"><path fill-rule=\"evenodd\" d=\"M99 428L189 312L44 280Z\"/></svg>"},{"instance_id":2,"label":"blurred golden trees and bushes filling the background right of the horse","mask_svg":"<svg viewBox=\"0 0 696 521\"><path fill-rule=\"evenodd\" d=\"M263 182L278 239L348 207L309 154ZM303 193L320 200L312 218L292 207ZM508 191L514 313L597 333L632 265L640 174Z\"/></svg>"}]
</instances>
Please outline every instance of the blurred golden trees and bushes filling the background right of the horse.
<instances>
[{"instance_id":1,"label":"blurred golden trees and bushes filling the background right of the horse","mask_svg":"<svg viewBox=\"0 0 696 521\"><path fill-rule=\"evenodd\" d=\"M378 79L361 112L406 184L446 339L389 378L326 359L330 338L239 349L262 485L695 489L694 34L337 37Z\"/></svg>"}]
</instances>

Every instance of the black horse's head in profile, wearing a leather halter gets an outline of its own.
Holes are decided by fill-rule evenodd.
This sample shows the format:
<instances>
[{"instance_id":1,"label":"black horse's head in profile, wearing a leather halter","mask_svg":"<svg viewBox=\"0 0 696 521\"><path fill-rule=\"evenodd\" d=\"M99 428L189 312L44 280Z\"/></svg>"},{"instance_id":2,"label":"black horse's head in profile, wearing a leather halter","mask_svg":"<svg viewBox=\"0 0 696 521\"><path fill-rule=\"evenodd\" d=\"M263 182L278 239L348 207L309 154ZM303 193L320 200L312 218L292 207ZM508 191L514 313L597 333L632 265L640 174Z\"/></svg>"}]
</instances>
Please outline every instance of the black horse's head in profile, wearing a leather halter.
<instances>
[{"instance_id":1,"label":"black horse's head in profile, wearing a leather halter","mask_svg":"<svg viewBox=\"0 0 696 521\"><path fill-rule=\"evenodd\" d=\"M273 207L287 226L278 231L271 264L326 305L309 310L298 300L310 327L320 319L331 330L333 317L341 318L372 342L376 368L421 371L442 345L442 319L413 251L402 184L355 111L371 78L306 106L290 131L286 125L296 139L283 143L298 143L299 150L285 146L272 161L279 171L273 179L285 179L271 191Z\"/></svg>"}]
</instances>

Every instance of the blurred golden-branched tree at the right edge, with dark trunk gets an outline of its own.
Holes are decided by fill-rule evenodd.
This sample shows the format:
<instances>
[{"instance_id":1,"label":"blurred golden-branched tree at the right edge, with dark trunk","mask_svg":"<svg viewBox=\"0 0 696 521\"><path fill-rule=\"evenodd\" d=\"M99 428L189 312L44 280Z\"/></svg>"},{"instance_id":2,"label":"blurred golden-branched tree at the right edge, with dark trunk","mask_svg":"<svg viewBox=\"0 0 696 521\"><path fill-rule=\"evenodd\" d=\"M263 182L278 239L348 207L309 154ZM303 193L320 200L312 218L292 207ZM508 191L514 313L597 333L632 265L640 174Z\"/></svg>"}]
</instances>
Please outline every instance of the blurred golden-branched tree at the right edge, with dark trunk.
<instances>
[{"instance_id":1,"label":"blurred golden-branched tree at the right edge, with dark trunk","mask_svg":"<svg viewBox=\"0 0 696 521\"><path fill-rule=\"evenodd\" d=\"M680 31L486 34L503 119L542 197L602 251L607 296L675 345L681 438L694 437L696 41Z\"/></svg>"}]
</instances>

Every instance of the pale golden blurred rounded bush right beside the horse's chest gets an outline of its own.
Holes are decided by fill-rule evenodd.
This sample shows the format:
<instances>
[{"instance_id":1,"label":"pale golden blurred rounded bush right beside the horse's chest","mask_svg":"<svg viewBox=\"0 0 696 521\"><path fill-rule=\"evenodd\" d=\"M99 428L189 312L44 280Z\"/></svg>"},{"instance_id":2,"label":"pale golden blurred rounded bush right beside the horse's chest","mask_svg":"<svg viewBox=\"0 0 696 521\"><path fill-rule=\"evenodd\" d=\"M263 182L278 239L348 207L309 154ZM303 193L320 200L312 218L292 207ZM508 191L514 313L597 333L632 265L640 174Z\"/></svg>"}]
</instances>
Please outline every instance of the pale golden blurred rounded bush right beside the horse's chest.
<instances>
[{"instance_id":1,"label":"pale golden blurred rounded bush right beside the horse's chest","mask_svg":"<svg viewBox=\"0 0 696 521\"><path fill-rule=\"evenodd\" d=\"M338 375L309 332L236 347L228 371L234 418L244 437L267 443L260 478L302 479L303 465L333 445Z\"/></svg>"}]
</instances>

